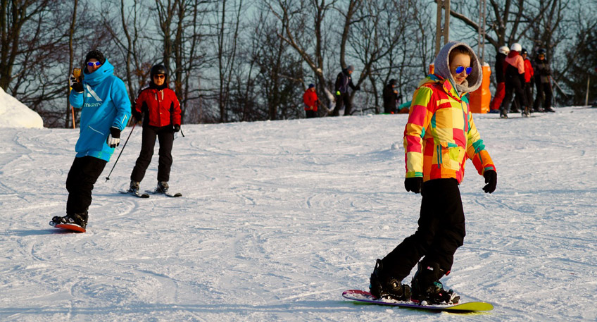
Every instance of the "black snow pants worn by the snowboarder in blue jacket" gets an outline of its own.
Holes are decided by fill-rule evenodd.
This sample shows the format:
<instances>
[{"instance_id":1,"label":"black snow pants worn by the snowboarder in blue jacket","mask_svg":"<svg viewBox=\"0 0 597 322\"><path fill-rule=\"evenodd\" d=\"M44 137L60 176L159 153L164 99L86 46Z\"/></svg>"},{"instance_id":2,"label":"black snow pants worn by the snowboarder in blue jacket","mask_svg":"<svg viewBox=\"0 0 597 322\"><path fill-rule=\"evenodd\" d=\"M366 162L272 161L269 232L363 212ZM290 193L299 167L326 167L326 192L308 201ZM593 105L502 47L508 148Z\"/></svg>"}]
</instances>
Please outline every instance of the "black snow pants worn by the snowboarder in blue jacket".
<instances>
[{"instance_id":1,"label":"black snow pants worn by the snowboarder in blue jacket","mask_svg":"<svg viewBox=\"0 0 597 322\"><path fill-rule=\"evenodd\" d=\"M75 158L66 177L66 214L86 213L92 204L92 190L101 171L106 167L106 160L93 156Z\"/></svg>"}]
</instances>

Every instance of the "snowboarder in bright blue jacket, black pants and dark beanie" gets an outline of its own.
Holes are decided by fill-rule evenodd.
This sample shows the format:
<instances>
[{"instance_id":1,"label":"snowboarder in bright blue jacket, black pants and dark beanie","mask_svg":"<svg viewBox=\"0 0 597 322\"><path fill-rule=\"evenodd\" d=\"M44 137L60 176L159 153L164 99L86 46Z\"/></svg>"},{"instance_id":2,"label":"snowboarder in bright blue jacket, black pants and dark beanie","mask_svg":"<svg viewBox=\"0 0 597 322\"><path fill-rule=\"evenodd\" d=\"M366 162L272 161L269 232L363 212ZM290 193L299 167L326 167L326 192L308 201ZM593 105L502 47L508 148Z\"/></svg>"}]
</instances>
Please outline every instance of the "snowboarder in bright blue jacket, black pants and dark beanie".
<instances>
[{"instance_id":1,"label":"snowboarder in bright blue jacket, black pants and dark beanie","mask_svg":"<svg viewBox=\"0 0 597 322\"><path fill-rule=\"evenodd\" d=\"M56 224L80 225L83 230L94 184L120 144L120 132L131 116L125 83L113 75L114 66L101 51L89 51L85 65L84 79L75 82L70 91L70 104L81 109L81 129L75 145L77 155L66 179L66 216L52 218Z\"/></svg>"}]
</instances>

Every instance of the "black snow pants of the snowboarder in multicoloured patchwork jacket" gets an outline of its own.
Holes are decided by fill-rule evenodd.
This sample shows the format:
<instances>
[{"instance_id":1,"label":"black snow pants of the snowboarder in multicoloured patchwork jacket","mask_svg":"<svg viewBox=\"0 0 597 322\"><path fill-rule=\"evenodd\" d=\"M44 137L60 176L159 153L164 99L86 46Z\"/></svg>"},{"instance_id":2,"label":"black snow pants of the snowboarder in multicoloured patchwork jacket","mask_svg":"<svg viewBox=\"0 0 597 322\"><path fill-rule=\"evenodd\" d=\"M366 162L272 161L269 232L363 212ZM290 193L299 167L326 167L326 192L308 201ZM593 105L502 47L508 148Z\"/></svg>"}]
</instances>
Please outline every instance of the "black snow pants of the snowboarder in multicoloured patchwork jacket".
<instances>
[{"instance_id":1,"label":"black snow pants of the snowboarder in multicoloured patchwork jacket","mask_svg":"<svg viewBox=\"0 0 597 322\"><path fill-rule=\"evenodd\" d=\"M414 235L382 259L384 268L398 280L403 280L417 265L439 264L449 272L454 253L465 238L465 214L456 179L435 179L423 183L421 190L419 227Z\"/></svg>"}]
</instances>

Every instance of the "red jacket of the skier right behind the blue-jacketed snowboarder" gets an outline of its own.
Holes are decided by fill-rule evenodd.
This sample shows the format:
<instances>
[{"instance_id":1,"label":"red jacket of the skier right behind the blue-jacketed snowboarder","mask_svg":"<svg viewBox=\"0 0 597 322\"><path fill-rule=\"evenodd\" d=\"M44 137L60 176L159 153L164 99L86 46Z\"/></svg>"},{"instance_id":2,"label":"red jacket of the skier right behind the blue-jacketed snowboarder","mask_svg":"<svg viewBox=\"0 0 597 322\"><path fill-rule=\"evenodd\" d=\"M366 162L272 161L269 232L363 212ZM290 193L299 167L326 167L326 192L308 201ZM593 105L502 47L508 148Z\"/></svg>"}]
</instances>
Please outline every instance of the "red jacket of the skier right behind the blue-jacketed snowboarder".
<instances>
[{"instance_id":1,"label":"red jacket of the skier right behind the blue-jacketed snowboarder","mask_svg":"<svg viewBox=\"0 0 597 322\"><path fill-rule=\"evenodd\" d=\"M137 97L134 109L137 112L146 112L151 126L163 127L166 125L180 125L180 103L176 94L168 87L164 89L146 88Z\"/></svg>"}]
</instances>

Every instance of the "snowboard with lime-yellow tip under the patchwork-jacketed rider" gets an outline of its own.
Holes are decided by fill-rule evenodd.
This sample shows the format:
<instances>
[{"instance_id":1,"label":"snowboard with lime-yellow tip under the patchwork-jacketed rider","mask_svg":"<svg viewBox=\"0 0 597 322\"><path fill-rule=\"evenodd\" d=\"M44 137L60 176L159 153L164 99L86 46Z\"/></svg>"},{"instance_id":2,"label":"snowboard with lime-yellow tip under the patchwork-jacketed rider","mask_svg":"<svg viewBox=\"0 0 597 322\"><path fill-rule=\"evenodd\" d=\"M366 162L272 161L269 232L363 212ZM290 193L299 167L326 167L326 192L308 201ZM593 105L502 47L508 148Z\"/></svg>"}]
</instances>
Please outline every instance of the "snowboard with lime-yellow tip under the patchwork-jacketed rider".
<instances>
[{"instance_id":1,"label":"snowboard with lime-yellow tip under the patchwork-jacketed rider","mask_svg":"<svg viewBox=\"0 0 597 322\"><path fill-rule=\"evenodd\" d=\"M394 301L392 299L377 299L370 292L362 290L347 290L342 293L342 297L350 299L356 302L365 302L371 304L390 305L390 306L403 306L410 307L413 309L425 309L432 311L458 311L458 312L471 312L471 311L491 311L494 306L486 302L465 302L458 304L437 304L427 305L421 303L415 303L410 301Z\"/></svg>"}]
</instances>

